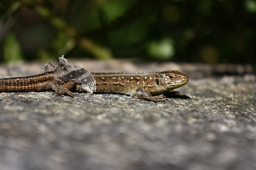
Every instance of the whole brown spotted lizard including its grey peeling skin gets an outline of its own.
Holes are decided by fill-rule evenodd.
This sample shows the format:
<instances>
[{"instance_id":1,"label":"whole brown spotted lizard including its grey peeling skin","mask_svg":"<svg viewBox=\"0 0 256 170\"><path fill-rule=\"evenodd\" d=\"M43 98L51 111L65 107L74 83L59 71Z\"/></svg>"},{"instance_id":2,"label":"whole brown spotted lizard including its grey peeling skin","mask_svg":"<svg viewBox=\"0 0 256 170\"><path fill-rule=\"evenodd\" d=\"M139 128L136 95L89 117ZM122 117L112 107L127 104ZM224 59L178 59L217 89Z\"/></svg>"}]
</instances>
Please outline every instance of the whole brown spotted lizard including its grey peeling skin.
<instances>
[{"instance_id":1,"label":"whole brown spotted lizard including its grey peeling skin","mask_svg":"<svg viewBox=\"0 0 256 170\"><path fill-rule=\"evenodd\" d=\"M90 73L82 67L72 66L64 57L59 57L59 59L61 64L56 68L51 63L46 63L45 67L41 69L44 73L0 79L0 92L55 90L52 95L69 95L71 97L76 94L74 92L117 93L158 102L167 101L163 96L164 92L169 92L188 83L188 76L177 70ZM73 67L73 70L70 70L69 67Z\"/></svg>"}]
</instances>

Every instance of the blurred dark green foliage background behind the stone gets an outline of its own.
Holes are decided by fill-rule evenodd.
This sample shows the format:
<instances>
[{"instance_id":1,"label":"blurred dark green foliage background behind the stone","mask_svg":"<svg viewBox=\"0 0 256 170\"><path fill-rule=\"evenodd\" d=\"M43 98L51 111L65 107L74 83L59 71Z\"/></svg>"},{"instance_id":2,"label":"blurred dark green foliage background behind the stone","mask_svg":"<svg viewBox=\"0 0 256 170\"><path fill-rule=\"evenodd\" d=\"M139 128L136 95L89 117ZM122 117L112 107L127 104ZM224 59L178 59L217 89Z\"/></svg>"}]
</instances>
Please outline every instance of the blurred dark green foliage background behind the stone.
<instances>
[{"instance_id":1,"label":"blurred dark green foliage background behind the stone","mask_svg":"<svg viewBox=\"0 0 256 170\"><path fill-rule=\"evenodd\" d=\"M256 0L0 0L0 62L256 63Z\"/></svg>"}]
</instances>

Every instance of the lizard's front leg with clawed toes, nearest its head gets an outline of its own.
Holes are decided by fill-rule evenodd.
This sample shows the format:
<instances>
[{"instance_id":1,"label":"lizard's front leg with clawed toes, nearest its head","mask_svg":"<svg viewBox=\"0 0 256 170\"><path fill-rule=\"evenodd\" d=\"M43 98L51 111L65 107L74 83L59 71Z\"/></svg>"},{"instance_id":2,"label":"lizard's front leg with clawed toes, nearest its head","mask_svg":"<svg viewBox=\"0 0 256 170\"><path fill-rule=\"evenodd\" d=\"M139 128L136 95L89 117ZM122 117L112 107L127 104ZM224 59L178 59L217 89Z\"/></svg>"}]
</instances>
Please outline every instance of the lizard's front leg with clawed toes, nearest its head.
<instances>
[{"instance_id":1,"label":"lizard's front leg with clawed toes, nearest its head","mask_svg":"<svg viewBox=\"0 0 256 170\"><path fill-rule=\"evenodd\" d=\"M150 92L148 92L146 89L142 88L142 87L138 87L136 89L136 92L134 93L131 93L130 94L132 97L137 97L139 99L144 99L144 100L149 100L149 101L155 101L155 102L158 102L158 101L168 101L166 99L165 96L163 96L163 94L161 95L158 95L158 96L152 96L150 94Z\"/></svg>"}]
</instances>

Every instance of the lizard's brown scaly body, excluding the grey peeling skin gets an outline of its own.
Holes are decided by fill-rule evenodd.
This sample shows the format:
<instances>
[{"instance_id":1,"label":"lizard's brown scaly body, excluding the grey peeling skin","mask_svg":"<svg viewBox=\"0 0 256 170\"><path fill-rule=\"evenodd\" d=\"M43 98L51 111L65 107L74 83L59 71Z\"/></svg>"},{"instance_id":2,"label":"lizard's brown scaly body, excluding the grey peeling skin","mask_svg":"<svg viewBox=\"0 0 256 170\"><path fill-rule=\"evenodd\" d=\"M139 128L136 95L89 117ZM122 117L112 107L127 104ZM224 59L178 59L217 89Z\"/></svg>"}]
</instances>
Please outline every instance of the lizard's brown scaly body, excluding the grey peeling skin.
<instances>
[{"instance_id":1,"label":"lizard's brown scaly body, excluding the grey peeling skin","mask_svg":"<svg viewBox=\"0 0 256 170\"><path fill-rule=\"evenodd\" d=\"M92 73L96 80L96 92L131 95L144 100L166 101L164 92L179 88L188 83L188 76L179 71L143 73ZM52 91L52 72L35 76L0 79L0 92ZM81 84L62 81L61 89L53 95L70 95L73 92L86 92ZM71 91L70 91L71 90ZM157 95L158 96L152 96Z\"/></svg>"}]
</instances>

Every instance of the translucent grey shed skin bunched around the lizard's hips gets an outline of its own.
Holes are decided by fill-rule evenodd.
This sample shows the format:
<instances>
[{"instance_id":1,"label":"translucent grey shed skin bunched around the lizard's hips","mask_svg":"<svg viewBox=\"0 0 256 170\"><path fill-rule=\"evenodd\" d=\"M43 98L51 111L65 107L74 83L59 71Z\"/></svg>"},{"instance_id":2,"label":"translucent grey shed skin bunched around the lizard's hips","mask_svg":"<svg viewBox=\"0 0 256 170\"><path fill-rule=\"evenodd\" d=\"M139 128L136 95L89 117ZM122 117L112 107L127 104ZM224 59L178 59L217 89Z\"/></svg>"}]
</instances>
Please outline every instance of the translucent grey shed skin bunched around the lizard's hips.
<instances>
[{"instance_id":1,"label":"translucent grey shed skin bunched around the lizard's hips","mask_svg":"<svg viewBox=\"0 0 256 170\"><path fill-rule=\"evenodd\" d=\"M59 57L59 60L60 63L56 68L54 68L51 63L46 63L41 70L44 72L53 71L53 76L57 79L65 81L74 80L76 83L81 83L82 88L89 93L96 91L96 81L91 72L80 66L71 65L68 63L68 60L64 58L64 55Z\"/></svg>"}]
</instances>

